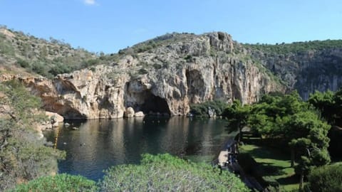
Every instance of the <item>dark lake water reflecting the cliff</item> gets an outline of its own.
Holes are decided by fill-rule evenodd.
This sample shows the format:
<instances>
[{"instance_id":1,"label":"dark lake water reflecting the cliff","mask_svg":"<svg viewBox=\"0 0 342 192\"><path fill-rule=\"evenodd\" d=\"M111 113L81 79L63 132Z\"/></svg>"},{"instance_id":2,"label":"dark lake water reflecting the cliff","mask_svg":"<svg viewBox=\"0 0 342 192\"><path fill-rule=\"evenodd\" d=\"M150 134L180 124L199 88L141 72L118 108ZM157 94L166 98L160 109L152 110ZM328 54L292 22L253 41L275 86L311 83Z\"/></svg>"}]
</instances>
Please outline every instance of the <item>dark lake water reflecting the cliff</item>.
<instances>
[{"instance_id":1,"label":"dark lake water reflecting the cliff","mask_svg":"<svg viewBox=\"0 0 342 192\"><path fill-rule=\"evenodd\" d=\"M211 161L229 138L227 122L221 119L145 117L69 123L70 127L44 133L56 148L66 151L66 159L58 162L59 172L95 181L110 166L138 164L145 153Z\"/></svg>"}]
</instances>

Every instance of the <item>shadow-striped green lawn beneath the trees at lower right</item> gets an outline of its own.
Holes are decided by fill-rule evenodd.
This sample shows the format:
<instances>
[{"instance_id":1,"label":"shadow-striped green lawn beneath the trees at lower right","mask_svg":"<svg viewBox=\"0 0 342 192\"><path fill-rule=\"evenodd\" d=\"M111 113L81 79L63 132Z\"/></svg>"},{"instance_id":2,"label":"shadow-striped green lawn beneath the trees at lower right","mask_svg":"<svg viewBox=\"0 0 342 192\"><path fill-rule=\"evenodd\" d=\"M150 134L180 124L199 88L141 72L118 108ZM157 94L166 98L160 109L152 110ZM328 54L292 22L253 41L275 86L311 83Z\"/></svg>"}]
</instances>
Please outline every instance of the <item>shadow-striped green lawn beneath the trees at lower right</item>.
<instances>
[{"instance_id":1,"label":"shadow-striped green lawn beneath the trees at lower right","mask_svg":"<svg viewBox=\"0 0 342 192\"><path fill-rule=\"evenodd\" d=\"M281 153L257 143L257 139L240 147L242 151L250 154L261 167L260 176L266 181L277 181L281 191L294 191L299 187L299 178L295 176L294 168L291 168L290 155Z\"/></svg>"}]
</instances>

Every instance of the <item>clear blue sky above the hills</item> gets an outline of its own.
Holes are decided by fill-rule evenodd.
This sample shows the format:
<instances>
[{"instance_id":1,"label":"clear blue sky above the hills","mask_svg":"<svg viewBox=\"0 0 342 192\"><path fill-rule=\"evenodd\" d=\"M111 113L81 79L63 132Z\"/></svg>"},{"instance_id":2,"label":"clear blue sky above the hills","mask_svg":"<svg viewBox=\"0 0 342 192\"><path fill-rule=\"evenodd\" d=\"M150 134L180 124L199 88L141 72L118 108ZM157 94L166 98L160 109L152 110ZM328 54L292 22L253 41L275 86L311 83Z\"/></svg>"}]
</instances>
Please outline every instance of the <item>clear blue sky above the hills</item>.
<instances>
[{"instance_id":1,"label":"clear blue sky above the hills","mask_svg":"<svg viewBox=\"0 0 342 192\"><path fill-rule=\"evenodd\" d=\"M93 52L172 32L224 31L242 43L341 39L341 0L0 0L0 24Z\"/></svg>"}]
</instances>

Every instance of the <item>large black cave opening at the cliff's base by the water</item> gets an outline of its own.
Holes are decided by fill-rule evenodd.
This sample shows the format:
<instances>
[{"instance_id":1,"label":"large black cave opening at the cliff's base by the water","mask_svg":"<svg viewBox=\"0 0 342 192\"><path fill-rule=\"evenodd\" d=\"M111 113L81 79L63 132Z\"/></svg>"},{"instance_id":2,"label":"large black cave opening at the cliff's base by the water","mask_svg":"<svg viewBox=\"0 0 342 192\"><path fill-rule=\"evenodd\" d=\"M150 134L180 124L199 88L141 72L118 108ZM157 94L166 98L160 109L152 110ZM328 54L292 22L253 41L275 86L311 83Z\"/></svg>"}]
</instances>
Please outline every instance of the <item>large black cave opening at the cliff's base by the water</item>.
<instances>
[{"instance_id":1,"label":"large black cave opening at the cliff's base by the water","mask_svg":"<svg viewBox=\"0 0 342 192\"><path fill-rule=\"evenodd\" d=\"M167 101L162 97L153 95L151 92L148 92L147 97L145 97L142 112L145 114L171 114Z\"/></svg>"}]
</instances>

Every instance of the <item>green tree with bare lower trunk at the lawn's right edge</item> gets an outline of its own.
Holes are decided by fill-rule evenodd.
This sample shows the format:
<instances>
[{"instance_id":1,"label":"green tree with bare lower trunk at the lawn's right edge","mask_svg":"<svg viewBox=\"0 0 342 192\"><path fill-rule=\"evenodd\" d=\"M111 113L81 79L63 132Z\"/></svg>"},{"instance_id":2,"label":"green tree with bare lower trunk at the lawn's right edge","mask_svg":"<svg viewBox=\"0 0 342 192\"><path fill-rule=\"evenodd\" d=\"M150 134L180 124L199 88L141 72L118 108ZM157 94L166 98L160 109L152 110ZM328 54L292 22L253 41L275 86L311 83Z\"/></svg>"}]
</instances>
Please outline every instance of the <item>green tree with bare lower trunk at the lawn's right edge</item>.
<instances>
[{"instance_id":1,"label":"green tree with bare lower trunk at the lawn's right edge","mask_svg":"<svg viewBox=\"0 0 342 192\"><path fill-rule=\"evenodd\" d=\"M318 119L313 111L294 114L287 122L288 134L294 139L291 146L291 166L294 166L294 154L299 154L296 173L300 175L299 188L303 187L304 176L315 166L330 162L328 154L328 130L330 125ZM296 152L295 152L296 151Z\"/></svg>"}]
</instances>

